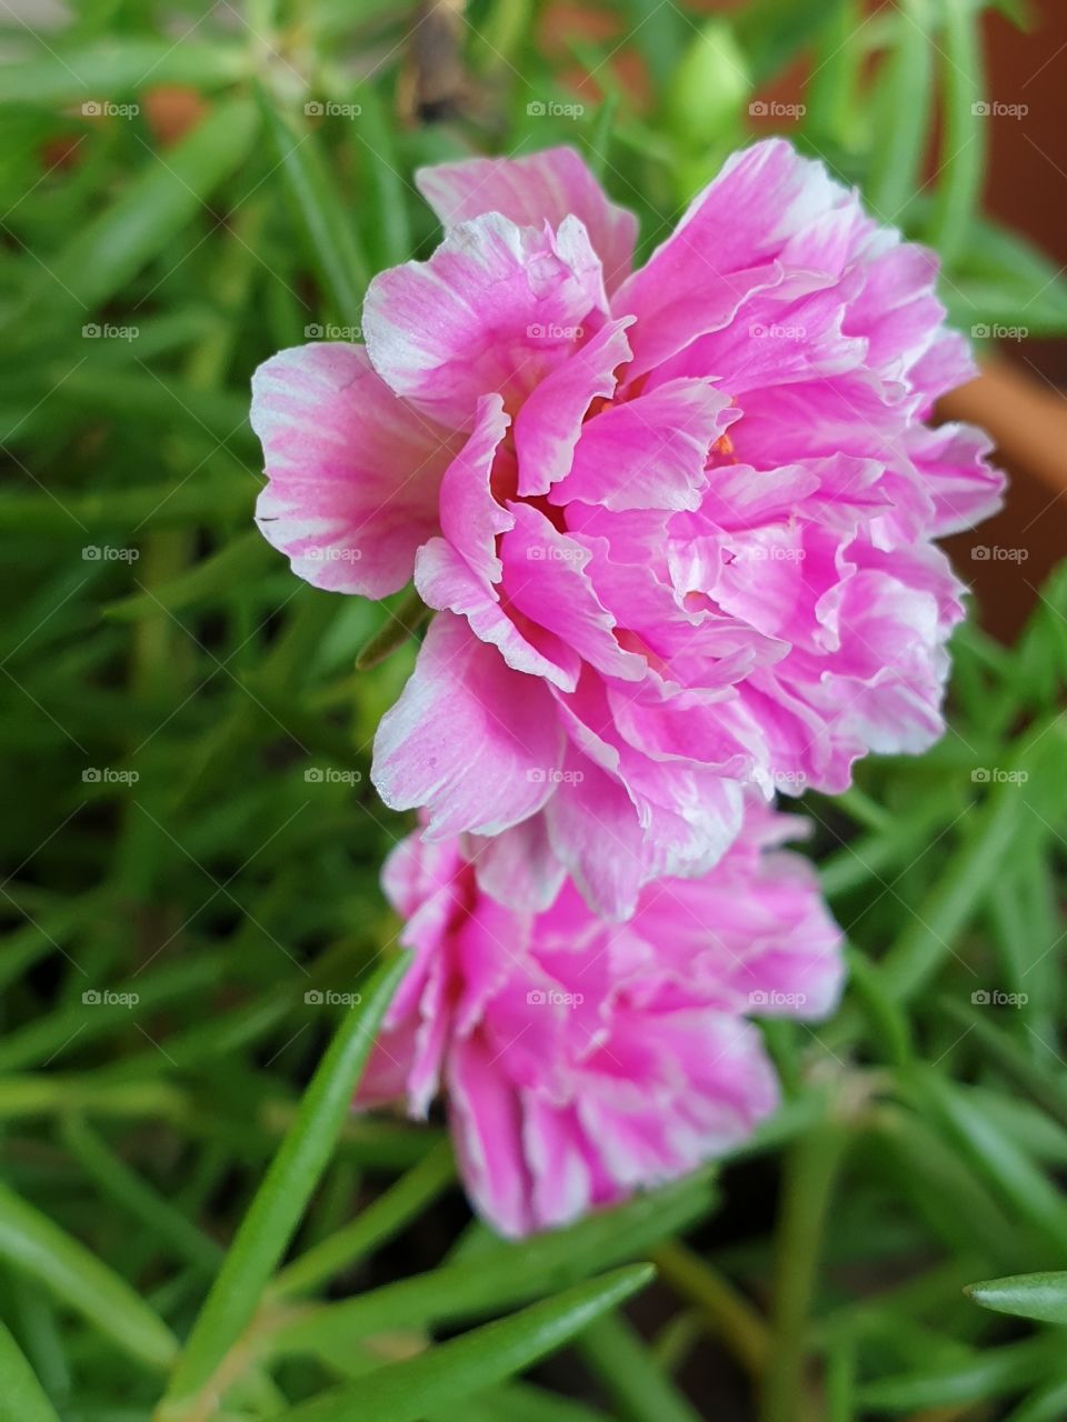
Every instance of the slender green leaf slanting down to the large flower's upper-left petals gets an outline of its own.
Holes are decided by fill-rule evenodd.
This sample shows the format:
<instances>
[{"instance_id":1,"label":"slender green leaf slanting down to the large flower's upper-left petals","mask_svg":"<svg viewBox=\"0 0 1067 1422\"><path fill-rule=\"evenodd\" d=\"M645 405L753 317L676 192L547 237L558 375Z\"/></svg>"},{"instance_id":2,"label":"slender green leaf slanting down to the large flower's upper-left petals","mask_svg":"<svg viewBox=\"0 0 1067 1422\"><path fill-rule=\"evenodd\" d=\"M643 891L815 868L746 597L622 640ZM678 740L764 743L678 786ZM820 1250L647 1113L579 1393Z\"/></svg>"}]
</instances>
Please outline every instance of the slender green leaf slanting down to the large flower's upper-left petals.
<instances>
[{"instance_id":1,"label":"slender green leaf slanting down to the large flower's upper-left petals","mask_svg":"<svg viewBox=\"0 0 1067 1422\"><path fill-rule=\"evenodd\" d=\"M312 128L300 135L294 134L262 87L258 94L267 132L279 155L282 179L300 219L310 256L316 260L337 317L356 324L370 272L353 223L330 178L319 135Z\"/></svg>"}]
</instances>

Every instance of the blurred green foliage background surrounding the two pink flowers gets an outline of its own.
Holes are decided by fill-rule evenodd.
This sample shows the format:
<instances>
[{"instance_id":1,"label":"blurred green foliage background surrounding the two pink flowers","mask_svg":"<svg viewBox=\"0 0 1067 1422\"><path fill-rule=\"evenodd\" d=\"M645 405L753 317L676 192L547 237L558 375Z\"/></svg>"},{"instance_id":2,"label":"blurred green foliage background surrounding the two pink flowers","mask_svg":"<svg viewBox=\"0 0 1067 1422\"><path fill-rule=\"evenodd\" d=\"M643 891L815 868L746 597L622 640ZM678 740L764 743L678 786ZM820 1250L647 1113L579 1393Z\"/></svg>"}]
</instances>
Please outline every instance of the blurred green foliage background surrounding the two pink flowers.
<instances>
[{"instance_id":1,"label":"blurred green foliage background surrounding the two pink flowers","mask_svg":"<svg viewBox=\"0 0 1067 1422\"><path fill-rule=\"evenodd\" d=\"M778 1118L504 1244L440 1125L347 1115L414 643L357 671L383 609L252 526L252 370L359 338L441 158L575 144L647 250L785 131L938 246L957 326L1067 334L983 216L986 9L0 4L0 1419L1067 1416L1061 1281L963 1293L1067 1267L1067 574L956 637L933 752L802 802L854 975L767 1024Z\"/></svg>"}]
</instances>

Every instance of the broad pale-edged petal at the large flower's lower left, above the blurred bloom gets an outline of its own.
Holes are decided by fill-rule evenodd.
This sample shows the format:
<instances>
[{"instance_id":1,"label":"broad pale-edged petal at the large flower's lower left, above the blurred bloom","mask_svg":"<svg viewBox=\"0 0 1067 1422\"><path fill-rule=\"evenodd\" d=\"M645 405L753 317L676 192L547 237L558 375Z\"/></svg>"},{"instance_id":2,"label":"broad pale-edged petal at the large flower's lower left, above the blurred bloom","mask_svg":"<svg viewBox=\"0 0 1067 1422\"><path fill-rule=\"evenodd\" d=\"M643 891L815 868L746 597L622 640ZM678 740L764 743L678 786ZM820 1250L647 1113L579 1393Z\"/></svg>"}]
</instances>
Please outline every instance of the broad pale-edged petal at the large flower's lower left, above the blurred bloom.
<instances>
[{"instance_id":1,"label":"broad pale-edged petal at the large flower's lower left, above the blurred bloom","mask_svg":"<svg viewBox=\"0 0 1067 1422\"><path fill-rule=\"evenodd\" d=\"M391 809L424 805L435 839L498 835L545 803L561 742L545 683L438 613L374 737L371 779Z\"/></svg>"}]
</instances>

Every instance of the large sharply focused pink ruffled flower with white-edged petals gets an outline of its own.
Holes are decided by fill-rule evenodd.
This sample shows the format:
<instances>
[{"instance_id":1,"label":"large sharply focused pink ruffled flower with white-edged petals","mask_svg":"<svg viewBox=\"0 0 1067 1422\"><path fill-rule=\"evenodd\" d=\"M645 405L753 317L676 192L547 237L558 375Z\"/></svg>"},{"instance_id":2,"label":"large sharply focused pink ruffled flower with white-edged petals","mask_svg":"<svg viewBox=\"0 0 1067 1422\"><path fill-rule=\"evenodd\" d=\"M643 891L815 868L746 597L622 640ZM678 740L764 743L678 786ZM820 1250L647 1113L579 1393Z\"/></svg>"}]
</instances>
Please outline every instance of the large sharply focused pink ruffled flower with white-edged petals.
<instances>
[{"instance_id":1,"label":"large sharply focused pink ruffled flower with white-edged petals","mask_svg":"<svg viewBox=\"0 0 1067 1422\"><path fill-rule=\"evenodd\" d=\"M491 893L600 913L700 876L744 786L839 792L940 735L987 441L925 422L972 374L930 253L774 139L630 270L635 220L555 149L424 171L428 262L367 346L255 380L265 535L320 587L414 576L438 616L374 754ZM489 843L484 840L491 839Z\"/></svg>"}]
</instances>

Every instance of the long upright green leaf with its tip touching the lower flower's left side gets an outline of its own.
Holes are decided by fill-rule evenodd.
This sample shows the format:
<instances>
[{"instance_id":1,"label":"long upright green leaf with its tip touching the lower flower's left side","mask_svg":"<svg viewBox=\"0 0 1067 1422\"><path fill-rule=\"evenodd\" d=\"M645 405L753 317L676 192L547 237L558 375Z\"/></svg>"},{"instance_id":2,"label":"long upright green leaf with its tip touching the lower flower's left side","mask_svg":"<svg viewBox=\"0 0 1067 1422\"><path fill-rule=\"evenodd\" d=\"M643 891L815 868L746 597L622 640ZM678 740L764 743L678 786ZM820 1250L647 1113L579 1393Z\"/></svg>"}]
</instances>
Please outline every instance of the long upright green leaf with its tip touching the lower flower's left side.
<instances>
[{"instance_id":1,"label":"long upright green leaf with its tip touching the lower flower's left side","mask_svg":"<svg viewBox=\"0 0 1067 1422\"><path fill-rule=\"evenodd\" d=\"M186 1412L252 1320L326 1169L374 1034L408 963L410 954L387 961L367 984L361 1003L341 1020L193 1324L166 1391L161 1422Z\"/></svg>"}]
</instances>

